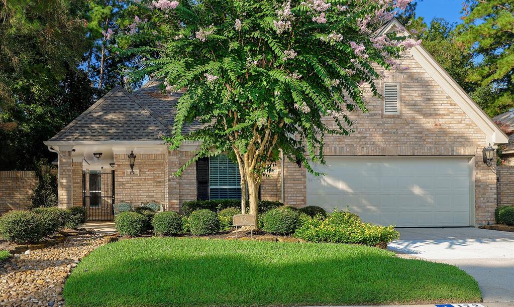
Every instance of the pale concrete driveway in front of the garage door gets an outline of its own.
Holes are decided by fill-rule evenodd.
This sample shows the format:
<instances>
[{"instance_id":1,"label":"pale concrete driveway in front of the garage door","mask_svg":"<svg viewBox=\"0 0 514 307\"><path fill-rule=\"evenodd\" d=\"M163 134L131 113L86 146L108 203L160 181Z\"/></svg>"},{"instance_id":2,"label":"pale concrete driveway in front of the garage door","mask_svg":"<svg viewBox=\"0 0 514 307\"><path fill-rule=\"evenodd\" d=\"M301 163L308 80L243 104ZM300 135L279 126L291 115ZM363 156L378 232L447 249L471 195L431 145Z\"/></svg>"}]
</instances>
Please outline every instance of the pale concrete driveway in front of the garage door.
<instances>
[{"instance_id":1,"label":"pale concrete driveway in front of the garage door","mask_svg":"<svg viewBox=\"0 0 514 307\"><path fill-rule=\"evenodd\" d=\"M389 249L456 265L478 281L484 302L514 302L514 233L480 228L398 228Z\"/></svg>"}]
</instances>

